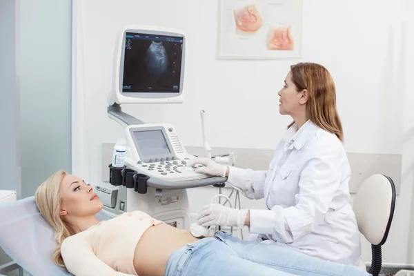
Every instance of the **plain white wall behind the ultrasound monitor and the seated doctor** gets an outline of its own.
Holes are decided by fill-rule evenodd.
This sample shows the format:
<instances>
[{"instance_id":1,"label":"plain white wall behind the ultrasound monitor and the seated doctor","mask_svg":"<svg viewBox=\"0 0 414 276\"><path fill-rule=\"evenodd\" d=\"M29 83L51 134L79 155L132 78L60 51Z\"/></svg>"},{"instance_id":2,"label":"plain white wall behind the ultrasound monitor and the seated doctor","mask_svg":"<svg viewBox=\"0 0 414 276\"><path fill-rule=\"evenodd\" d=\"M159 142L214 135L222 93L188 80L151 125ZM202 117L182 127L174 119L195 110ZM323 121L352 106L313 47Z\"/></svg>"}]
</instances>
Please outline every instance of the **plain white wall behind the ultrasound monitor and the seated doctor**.
<instances>
[{"instance_id":1,"label":"plain white wall behind the ultrasound monitor and the seated doctor","mask_svg":"<svg viewBox=\"0 0 414 276\"><path fill-rule=\"evenodd\" d=\"M117 141L123 135L121 127L106 117L112 54L122 26L159 25L186 32L185 103L123 107L146 123L174 124L186 146L201 145L199 110L204 109L210 146L275 148L290 122L278 114L277 91L290 64L314 61L326 66L335 79L346 150L403 155L401 195L384 262L414 263L412 254L407 259L414 182L414 110L409 104L413 96L408 81L402 86L404 79L400 78L400 25L396 19L401 17L395 16L400 9L408 10L408 2L304 1L303 58L290 61L217 60L217 1L84 2L81 44L90 161L79 167L90 168L92 184L101 181L101 143ZM73 152L74 156L80 154ZM190 190L192 212L208 203L215 192L213 188ZM263 206L262 201L243 204L246 208ZM367 260L370 250L364 244Z\"/></svg>"}]
</instances>

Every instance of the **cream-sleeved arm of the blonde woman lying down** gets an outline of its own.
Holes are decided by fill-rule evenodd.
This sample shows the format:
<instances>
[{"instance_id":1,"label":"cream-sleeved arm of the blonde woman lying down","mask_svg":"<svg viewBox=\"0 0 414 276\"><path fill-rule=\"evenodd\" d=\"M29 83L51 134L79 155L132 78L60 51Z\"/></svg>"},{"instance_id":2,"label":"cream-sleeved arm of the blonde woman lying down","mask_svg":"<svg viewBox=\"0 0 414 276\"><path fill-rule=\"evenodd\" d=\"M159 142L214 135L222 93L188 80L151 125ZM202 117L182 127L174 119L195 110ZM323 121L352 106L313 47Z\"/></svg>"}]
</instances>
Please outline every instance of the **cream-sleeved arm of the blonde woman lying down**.
<instances>
[{"instance_id":1,"label":"cream-sleeved arm of the blonde woman lying down","mask_svg":"<svg viewBox=\"0 0 414 276\"><path fill-rule=\"evenodd\" d=\"M71 239L69 237L63 240L61 255L66 269L76 276L132 276L117 272L102 262L93 253L92 246L85 239Z\"/></svg>"}]
</instances>

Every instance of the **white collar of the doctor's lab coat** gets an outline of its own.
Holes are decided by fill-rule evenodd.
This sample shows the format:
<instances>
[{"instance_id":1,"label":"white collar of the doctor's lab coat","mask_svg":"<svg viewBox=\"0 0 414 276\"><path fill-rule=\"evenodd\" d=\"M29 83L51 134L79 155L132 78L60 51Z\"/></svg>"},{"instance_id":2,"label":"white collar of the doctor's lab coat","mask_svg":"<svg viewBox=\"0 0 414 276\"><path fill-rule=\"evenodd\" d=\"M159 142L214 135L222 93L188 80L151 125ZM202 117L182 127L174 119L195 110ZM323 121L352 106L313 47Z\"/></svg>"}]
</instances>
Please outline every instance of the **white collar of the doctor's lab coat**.
<instances>
[{"instance_id":1,"label":"white collar of the doctor's lab coat","mask_svg":"<svg viewBox=\"0 0 414 276\"><path fill-rule=\"evenodd\" d=\"M313 124L311 120L306 121L306 123L299 128L299 130L297 129L297 124L295 123L293 126L288 128L286 134L284 135L285 145L288 146L289 149L295 147L300 150L318 129L319 127Z\"/></svg>"}]
</instances>

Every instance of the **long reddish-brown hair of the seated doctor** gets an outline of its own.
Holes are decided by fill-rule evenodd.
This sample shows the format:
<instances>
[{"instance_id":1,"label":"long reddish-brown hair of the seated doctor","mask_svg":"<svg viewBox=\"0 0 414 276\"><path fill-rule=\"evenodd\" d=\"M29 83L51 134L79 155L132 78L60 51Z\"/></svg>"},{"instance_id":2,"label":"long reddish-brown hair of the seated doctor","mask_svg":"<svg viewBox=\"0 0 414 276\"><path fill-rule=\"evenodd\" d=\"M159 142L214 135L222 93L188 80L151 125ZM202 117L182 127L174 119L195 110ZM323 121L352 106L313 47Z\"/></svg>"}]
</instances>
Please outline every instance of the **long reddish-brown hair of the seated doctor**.
<instances>
[{"instance_id":1,"label":"long reddish-brown hair of the seated doctor","mask_svg":"<svg viewBox=\"0 0 414 276\"><path fill-rule=\"evenodd\" d=\"M324 66L317 63L297 63L290 66L297 91L308 90L306 112L313 124L344 140L341 119L336 108L335 83ZM293 121L290 126L295 124Z\"/></svg>"}]
</instances>

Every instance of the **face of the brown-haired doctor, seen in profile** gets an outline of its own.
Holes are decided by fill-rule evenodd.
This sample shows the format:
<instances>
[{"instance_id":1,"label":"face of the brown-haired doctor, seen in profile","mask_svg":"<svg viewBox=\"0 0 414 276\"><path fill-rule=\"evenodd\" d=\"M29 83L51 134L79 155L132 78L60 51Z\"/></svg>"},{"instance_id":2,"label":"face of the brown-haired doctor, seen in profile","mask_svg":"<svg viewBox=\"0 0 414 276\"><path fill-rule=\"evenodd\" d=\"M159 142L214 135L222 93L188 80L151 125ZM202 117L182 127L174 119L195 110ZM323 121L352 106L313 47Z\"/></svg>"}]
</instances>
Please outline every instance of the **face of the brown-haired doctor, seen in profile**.
<instances>
[{"instance_id":1,"label":"face of the brown-haired doctor, seen in profile","mask_svg":"<svg viewBox=\"0 0 414 276\"><path fill-rule=\"evenodd\" d=\"M279 112L282 115L296 115L299 110L302 110L302 93L297 91L297 87L292 82L292 72L289 71L286 79L284 80L284 86L277 93L280 96L279 99Z\"/></svg>"}]
</instances>

